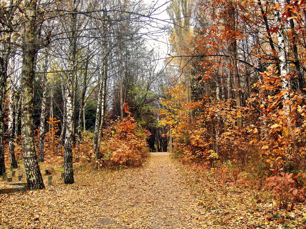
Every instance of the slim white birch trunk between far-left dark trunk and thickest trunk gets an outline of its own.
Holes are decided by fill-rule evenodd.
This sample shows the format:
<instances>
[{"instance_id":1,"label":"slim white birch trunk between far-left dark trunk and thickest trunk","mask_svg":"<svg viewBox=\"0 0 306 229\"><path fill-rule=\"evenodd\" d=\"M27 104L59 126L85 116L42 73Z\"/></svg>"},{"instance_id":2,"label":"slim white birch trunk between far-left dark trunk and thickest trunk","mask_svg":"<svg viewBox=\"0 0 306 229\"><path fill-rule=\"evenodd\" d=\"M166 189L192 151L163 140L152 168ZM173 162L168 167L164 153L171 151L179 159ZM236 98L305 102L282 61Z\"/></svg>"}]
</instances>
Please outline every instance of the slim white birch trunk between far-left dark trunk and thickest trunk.
<instances>
[{"instance_id":1,"label":"slim white birch trunk between far-left dark trunk and thickest trunk","mask_svg":"<svg viewBox=\"0 0 306 229\"><path fill-rule=\"evenodd\" d=\"M9 159L11 162L11 166L14 169L17 169L17 161L15 158L15 151L14 151L14 131L13 131L13 113L14 113L14 82L15 82L15 72L14 72L14 60L15 56L12 58L11 62L11 72L9 77Z\"/></svg>"}]
</instances>

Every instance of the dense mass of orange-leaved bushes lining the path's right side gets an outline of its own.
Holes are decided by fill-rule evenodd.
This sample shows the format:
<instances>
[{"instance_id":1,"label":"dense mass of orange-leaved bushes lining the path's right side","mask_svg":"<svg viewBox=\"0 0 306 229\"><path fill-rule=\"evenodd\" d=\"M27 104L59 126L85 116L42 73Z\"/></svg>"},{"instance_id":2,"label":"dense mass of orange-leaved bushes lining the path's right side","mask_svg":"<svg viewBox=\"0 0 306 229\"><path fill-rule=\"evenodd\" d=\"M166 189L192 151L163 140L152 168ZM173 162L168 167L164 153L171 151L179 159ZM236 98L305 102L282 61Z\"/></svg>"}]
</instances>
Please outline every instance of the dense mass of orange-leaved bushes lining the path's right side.
<instances>
[{"instance_id":1,"label":"dense mass of orange-leaved bushes lining the path's right side","mask_svg":"<svg viewBox=\"0 0 306 229\"><path fill-rule=\"evenodd\" d=\"M254 180L285 207L304 200L306 101L293 91L282 100L286 92L275 78L270 74L257 82L258 93L243 108L210 96L186 104L186 88L177 85L166 90L160 114L161 123L172 128L174 152L185 162L214 167L222 185ZM278 93L271 95L271 88L264 87L271 84ZM242 128L237 127L239 115Z\"/></svg>"}]
</instances>

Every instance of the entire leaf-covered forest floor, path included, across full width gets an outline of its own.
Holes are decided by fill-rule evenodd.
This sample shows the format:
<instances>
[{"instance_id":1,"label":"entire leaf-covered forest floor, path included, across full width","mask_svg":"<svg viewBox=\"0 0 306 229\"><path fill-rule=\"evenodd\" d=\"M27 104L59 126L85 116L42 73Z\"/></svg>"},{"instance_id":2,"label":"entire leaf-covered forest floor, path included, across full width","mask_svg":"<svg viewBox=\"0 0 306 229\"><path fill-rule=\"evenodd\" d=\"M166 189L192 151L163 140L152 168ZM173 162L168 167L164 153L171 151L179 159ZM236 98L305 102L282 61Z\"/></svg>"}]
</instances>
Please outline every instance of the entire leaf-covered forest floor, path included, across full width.
<instances>
[{"instance_id":1,"label":"entire leaf-covered forest floor, path included, across full width","mask_svg":"<svg viewBox=\"0 0 306 229\"><path fill-rule=\"evenodd\" d=\"M88 168L75 175L72 185L62 184L60 170L55 169L54 185L45 190L0 195L0 227L305 227L304 205L279 212L258 190L229 187L225 194L203 175L209 176L181 166L167 153L151 155L139 168L115 172ZM43 177L47 184L47 176Z\"/></svg>"}]
</instances>

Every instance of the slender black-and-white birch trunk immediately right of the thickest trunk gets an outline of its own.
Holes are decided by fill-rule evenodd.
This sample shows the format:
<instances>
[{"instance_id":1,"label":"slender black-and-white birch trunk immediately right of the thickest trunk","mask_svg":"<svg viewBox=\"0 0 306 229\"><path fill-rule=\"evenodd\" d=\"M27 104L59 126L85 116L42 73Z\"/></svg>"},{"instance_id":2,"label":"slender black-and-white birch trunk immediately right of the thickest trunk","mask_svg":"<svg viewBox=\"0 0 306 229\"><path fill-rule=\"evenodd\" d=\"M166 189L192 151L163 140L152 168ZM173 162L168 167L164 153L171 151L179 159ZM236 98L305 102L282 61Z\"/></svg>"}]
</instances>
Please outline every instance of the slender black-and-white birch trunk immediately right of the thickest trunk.
<instances>
[{"instance_id":1,"label":"slender black-and-white birch trunk immediately right of the thickest trunk","mask_svg":"<svg viewBox=\"0 0 306 229\"><path fill-rule=\"evenodd\" d=\"M46 58L48 58L46 56ZM47 61L46 61L46 67L45 72L47 71ZM39 134L39 154L38 154L38 160L40 162L44 161L44 142L45 142L45 131L46 131L46 101L47 101L47 73L43 73L43 97L42 97L42 105L41 105L41 115L40 115L40 134Z\"/></svg>"}]
</instances>

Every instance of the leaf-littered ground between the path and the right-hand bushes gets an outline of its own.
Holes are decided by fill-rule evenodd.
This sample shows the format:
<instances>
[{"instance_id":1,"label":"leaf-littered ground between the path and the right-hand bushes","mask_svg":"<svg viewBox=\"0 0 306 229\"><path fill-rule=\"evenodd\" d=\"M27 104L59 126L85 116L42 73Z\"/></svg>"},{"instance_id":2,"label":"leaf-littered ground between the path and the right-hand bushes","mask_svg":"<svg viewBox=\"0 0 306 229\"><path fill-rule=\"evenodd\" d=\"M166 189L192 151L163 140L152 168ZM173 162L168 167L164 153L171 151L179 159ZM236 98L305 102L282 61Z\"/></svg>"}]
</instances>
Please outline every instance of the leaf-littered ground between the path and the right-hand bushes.
<instances>
[{"instance_id":1,"label":"leaf-littered ground between the path and the right-hand bushes","mask_svg":"<svg viewBox=\"0 0 306 229\"><path fill-rule=\"evenodd\" d=\"M292 203L279 208L279 200L254 180L233 180L230 172L204 168L196 163L179 160L180 172L198 196L200 218L207 227L220 228L305 228L306 205ZM230 176L229 176L230 175Z\"/></svg>"}]
</instances>

